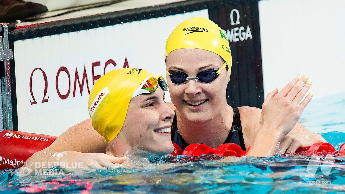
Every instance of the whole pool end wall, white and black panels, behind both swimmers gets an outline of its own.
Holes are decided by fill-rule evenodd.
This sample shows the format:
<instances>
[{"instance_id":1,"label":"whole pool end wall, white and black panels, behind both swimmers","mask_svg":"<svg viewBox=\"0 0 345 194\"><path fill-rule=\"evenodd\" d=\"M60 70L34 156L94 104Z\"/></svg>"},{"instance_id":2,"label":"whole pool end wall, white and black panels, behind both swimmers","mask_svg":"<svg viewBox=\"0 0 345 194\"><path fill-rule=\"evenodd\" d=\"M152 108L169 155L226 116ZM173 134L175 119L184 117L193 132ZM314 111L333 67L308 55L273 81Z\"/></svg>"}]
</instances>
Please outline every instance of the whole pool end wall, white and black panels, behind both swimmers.
<instances>
[{"instance_id":1,"label":"whole pool end wall, white and black panels, behind both swimmers","mask_svg":"<svg viewBox=\"0 0 345 194\"><path fill-rule=\"evenodd\" d=\"M139 67L165 77L165 41L195 16L214 20L230 39L231 106L260 107L273 88L304 74L313 81L314 99L345 91L343 1L126 3L10 30L14 130L58 136L89 118L89 91L112 69Z\"/></svg>"}]
</instances>

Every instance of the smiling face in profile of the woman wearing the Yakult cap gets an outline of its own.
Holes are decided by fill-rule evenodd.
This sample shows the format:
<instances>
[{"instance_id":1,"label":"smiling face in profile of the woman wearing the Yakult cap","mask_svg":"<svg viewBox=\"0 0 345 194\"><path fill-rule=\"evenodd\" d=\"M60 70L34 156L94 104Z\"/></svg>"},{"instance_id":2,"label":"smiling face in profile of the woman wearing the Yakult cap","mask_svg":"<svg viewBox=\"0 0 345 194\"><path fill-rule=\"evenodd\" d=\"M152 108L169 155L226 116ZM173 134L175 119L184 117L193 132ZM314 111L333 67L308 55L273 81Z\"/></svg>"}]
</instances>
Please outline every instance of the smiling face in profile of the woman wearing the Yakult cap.
<instances>
[{"instance_id":1,"label":"smiling face in profile of the woman wearing the Yakult cap","mask_svg":"<svg viewBox=\"0 0 345 194\"><path fill-rule=\"evenodd\" d=\"M174 111L164 102L164 91L158 87L151 94L141 94L131 99L126 119L118 138L128 147L158 155L174 150L170 127Z\"/></svg>"}]
</instances>

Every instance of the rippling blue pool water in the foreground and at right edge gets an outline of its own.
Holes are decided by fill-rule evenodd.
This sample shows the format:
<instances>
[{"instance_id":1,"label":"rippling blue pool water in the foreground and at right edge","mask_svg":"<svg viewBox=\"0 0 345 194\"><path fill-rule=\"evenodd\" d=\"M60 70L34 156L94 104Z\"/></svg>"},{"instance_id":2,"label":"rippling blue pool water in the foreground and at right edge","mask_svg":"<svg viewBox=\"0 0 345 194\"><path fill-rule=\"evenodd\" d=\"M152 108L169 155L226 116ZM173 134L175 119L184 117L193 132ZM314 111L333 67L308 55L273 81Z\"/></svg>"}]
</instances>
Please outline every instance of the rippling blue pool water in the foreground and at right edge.
<instances>
[{"instance_id":1,"label":"rippling blue pool water in the foreground and at right edge","mask_svg":"<svg viewBox=\"0 0 345 194\"><path fill-rule=\"evenodd\" d=\"M308 129L323 132L322 136L336 150L345 143L345 133L342 133L345 131L345 100L342 96L345 94L315 100L312 106L307 106L300 120ZM325 101L329 105L325 106ZM23 178L12 175L15 169L7 169L0 171L0 193L345 192L345 154L320 155L178 156L151 158L150 161L142 158L132 161L140 166L132 169L119 167L60 175L55 173L59 169L51 169L51 175Z\"/></svg>"}]
</instances>

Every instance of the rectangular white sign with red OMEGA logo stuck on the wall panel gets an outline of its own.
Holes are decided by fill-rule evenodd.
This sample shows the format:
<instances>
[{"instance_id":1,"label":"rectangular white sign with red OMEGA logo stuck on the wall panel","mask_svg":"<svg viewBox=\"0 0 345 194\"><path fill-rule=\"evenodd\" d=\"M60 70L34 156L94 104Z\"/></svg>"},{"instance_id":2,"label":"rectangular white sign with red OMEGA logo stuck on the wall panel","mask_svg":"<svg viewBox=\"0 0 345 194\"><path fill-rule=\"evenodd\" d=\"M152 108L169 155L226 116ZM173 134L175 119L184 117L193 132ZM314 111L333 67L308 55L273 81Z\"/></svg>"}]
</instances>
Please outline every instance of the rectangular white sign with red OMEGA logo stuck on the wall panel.
<instances>
[{"instance_id":1,"label":"rectangular white sign with red OMEGA logo stuck on the wall panel","mask_svg":"<svg viewBox=\"0 0 345 194\"><path fill-rule=\"evenodd\" d=\"M100 53L99 55L97 53ZM26 65L29 114L87 105L90 90L101 76L129 67L130 48L98 50L44 58Z\"/></svg>"}]
</instances>

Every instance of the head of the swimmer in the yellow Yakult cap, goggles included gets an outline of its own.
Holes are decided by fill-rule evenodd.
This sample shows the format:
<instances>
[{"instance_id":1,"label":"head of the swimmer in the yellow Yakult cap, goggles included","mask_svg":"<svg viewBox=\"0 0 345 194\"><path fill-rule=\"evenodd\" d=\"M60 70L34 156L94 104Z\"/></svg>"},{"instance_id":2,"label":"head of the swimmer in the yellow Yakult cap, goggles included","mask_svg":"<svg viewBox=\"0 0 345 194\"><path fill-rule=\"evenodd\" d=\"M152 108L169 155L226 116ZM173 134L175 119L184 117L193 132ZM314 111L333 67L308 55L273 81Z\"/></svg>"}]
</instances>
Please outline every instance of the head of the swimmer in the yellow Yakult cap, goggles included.
<instances>
[{"instance_id":1,"label":"head of the swimmer in the yellow Yakult cap, goggles included","mask_svg":"<svg viewBox=\"0 0 345 194\"><path fill-rule=\"evenodd\" d=\"M97 80L89 96L92 126L109 144L106 154L122 156L133 147L164 155L174 149L174 112L165 104L167 85L138 68L112 70Z\"/></svg>"}]
</instances>

